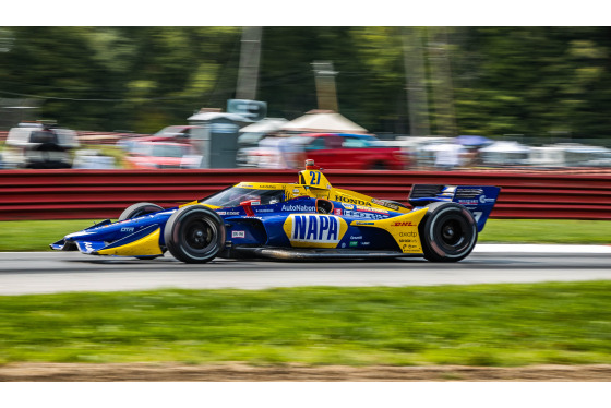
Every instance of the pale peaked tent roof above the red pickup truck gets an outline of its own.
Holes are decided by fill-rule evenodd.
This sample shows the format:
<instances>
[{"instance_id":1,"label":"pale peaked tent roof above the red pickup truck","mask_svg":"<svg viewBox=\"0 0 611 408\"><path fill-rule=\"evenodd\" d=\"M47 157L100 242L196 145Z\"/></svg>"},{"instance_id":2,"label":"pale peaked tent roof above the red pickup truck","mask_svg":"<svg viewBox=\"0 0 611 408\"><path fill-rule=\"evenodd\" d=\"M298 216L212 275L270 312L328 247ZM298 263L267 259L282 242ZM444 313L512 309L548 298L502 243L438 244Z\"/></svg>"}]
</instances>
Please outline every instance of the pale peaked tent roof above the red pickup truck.
<instances>
[{"instance_id":1,"label":"pale peaked tent roof above the red pickup truck","mask_svg":"<svg viewBox=\"0 0 611 408\"><path fill-rule=\"evenodd\" d=\"M367 129L333 110L311 110L304 116L284 124L281 130L288 132L367 133Z\"/></svg>"}]
</instances>

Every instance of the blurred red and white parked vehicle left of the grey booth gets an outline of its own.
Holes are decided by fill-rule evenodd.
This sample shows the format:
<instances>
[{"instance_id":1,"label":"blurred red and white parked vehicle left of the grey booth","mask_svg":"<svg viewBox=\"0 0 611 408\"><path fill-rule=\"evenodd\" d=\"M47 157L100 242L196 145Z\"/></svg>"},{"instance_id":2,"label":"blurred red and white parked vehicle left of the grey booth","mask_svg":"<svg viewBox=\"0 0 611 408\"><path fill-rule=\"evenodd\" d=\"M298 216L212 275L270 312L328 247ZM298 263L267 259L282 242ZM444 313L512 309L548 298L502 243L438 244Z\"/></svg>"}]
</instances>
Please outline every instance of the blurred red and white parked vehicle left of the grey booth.
<instances>
[{"instance_id":1,"label":"blurred red and white parked vehicle left of the grey booth","mask_svg":"<svg viewBox=\"0 0 611 408\"><path fill-rule=\"evenodd\" d=\"M202 156L185 143L137 142L125 157L128 168L178 169L199 168Z\"/></svg>"}]
</instances>

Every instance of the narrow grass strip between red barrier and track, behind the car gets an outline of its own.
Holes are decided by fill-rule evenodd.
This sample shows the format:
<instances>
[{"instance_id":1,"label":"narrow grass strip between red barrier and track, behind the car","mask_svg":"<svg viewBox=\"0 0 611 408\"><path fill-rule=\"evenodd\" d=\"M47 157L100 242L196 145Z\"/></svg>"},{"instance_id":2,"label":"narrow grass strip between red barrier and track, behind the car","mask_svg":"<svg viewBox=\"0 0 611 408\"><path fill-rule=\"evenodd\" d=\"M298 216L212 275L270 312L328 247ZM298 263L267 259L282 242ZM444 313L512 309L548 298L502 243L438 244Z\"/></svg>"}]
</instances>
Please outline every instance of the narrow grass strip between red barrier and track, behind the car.
<instances>
[{"instance_id":1,"label":"narrow grass strip between red barrier and track, behind the car","mask_svg":"<svg viewBox=\"0 0 611 408\"><path fill-rule=\"evenodd\" d=\"M98 219L99 221L100 219ZM45 251L64 235L94 220L0 221L0 251ZM611 244L611 221L555 219L490 219L479 242Z\"/></svg>"}]
</instances>

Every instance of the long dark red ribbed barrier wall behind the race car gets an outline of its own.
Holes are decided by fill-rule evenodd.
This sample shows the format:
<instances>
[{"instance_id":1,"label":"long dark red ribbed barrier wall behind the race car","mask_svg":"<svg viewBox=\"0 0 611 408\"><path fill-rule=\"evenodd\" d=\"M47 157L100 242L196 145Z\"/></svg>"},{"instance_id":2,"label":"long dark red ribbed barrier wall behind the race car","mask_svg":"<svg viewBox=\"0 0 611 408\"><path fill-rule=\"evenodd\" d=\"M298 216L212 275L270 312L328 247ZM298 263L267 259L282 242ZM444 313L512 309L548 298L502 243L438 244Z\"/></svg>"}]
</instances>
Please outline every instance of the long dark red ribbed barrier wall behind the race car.
<instances>
[{"instance_id":1,"label":"long dark red ribbed barrier wall behind the race car","mask_svg":"<svg viewBox=\"0 0 611 408\"><path fill-rule=\"evenodd\" d=\"M611 173L326 170L337 188L407 203L411 184L502 188L492 218L611 219ZM295 182L296 170L3 170L0 220L117 218L130 204L173 206L239 181Z\"/></svg>"}]
</instances>

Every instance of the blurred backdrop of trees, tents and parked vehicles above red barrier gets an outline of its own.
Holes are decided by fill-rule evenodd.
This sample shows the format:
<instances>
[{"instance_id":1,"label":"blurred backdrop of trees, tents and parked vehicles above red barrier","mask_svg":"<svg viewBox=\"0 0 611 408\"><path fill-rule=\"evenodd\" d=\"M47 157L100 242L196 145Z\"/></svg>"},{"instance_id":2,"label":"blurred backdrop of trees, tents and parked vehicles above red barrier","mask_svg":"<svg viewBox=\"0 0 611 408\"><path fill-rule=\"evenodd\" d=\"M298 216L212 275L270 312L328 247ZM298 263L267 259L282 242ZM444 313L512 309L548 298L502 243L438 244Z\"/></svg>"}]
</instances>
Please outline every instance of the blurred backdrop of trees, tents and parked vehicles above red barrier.
<instances>
[{"instance_id":1,"label":"blurred backdrop of trees, tents and parked vehicles above red barrier","mask_svg":"<svg viewBox=\"0 0 611 408\"><path fill-rule=\"evenodd\" d=\"M0 168L611 168L610 27L0 27Z\"/></svg>"}]
</instances>

